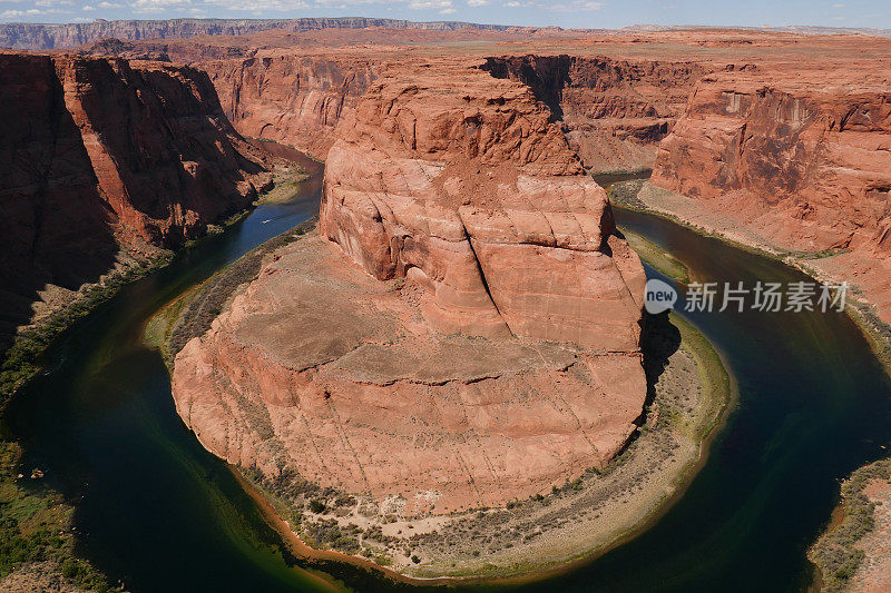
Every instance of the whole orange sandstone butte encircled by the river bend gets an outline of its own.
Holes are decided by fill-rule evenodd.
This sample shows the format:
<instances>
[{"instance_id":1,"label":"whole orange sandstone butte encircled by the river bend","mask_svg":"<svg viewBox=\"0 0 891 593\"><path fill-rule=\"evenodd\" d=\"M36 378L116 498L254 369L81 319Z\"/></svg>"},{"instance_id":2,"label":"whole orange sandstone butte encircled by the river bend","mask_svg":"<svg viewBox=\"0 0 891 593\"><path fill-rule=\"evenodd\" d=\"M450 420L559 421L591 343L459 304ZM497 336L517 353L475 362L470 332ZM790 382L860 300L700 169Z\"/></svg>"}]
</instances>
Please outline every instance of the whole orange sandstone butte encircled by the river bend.
<instances>
[{"instance_id":1,"label":"whole orange sandstone butte encircled by the river bend","mask_svg":"<svg viewBox=\"0 0 891 593\"><path fill-rule=\"evenodd\" d=\"M202 443L381 515L503 505L608 463L646 392L645 277L549 118L473 63L381 68L337 123L320 236L176 356Z\"/></svg>"}]
</instances>

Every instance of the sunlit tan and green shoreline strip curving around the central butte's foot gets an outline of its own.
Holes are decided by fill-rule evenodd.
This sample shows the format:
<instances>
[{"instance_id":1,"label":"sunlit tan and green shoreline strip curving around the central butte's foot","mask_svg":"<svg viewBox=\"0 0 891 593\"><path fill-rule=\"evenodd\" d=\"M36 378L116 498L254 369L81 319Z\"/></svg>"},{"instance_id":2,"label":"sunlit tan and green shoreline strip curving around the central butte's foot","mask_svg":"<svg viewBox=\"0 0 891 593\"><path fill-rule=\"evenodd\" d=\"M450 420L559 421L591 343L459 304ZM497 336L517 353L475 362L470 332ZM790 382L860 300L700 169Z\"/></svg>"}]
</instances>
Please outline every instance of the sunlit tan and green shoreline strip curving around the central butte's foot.
<instances>
[{"instance_id":1,"label":"sunlit tan and green shoreline strip curving around the central butte's foot","mask_svg":"<svg viewBox=\"0 0 891 593\"><path fill-rule=\"evenodd\" d=\"M281 238L276 241L280 246L286 244L282 243ZM272 249L263 246L255 251L273 255ZM247 258L247 256L245 257ZM232 274L242 281L249 281L249 277L258 270L255 269L254 264L247 265L246 261L245 258L239 259L221 270L214 278L222 274ZM239 274L239 266L248 267L249 274ZM217 295L216 308L223 308L237 288L236 283L227 284L228 291ZM203 295L214 290L214 279L212 278L206 286L190 289L188 295L190 299L202 302L204 300ZM170 307L175 309L174 313L184 315L169 315L169 310L165 309ZM188 313L188 303L174 302L165 309L159 310L154 318L166 318L167 327L193 325L189 316L194 316L196 313ZM172 320L174 317L178 317L178 319ZM233 471L239 472L242 477L247 480L255 500L265 502L262 508L267 515L268 523L276 528L283 541L290 544L292 553L297 557L340 560L361 567L371 565L381 569L388 577L398 577L401 582L405 580L404 582L414 584L439 582L517 584L562 574L581 564L589 563L609 550L631 540L656 522L672 506L672 503L679 498L707 457L711 439L718 432L717 427L726 417L725 412L735 397L735 383L727 373L721 356L711 344L683 319L673 318L673 322L674 325L670 326L673 330L683 336L683 339L678 338L681 349L676 355L683 359L668 365L666 372L668 378L665 379L665 383L668 383L669 379L676 380L679 382L679 386L674 386L674 393L657 395L656 405L653 406L656 411L655 413L650 411L649 418L640 429L640 436L604 472L604 475L594 472L586 473L572 483L567 482L564 488L555 488L555 492L548 496L519 501L508 508L486 510L476 513L476 516L474 513L450 516L448 524L439 522L435 528L427 532L423 531L423 527L420 527L420 531L412 527L412 523L423 522L419 521L419 517L388 521L383 527L386 530L384 541L389 545L380 546L376 541L365 538L363 534L358 536L356 544L365 554L363 557L332 551L329 546L309 545L306 537L303 536L303 527L294 528L294 522L286 522L283 518L283 516L296 515L298 516L297 523L305 525L302 521L304 518L302 510L294 511L288 501L276 498L270 488L264 487L262 481L256 481L255 476L247 476L239 468L233 468ZM183 339L187 340L200 335L202 327L205 325L193 329ZM155 334L154 342L157 345L157 332ZM168 338L169 335L167 333ZM183 339L179 340L179 347L184 344ZM177 348L168 345L163 347L163 350L165 350L165 358L170 359L175 356ZM686 372L692 372L695 379L691 380L688 377L682 376L683 365L687 365ZM676 366L681 367L681 370L676 369ZM660 389L660 385L657 384L657 391ZM659 404L670 408L674 405L670 402L672 397L691 397L689 394L701 389L706 397L702 401L687 402L691 404L689 408L695 411L691 417L685 417L683 413L675 411L677 412L677 415L674 416L675 426L664 418L660 422ZM670 388L666 388L666 391L672 392ZM683 393L678 395L678 392ZM679 411L685 406L677 407ZM664 417L669 416L670 414L666 413ZM678 426L682 427L678 428ZM685 431L692 431L692 434L684 434ZM672 451L660 449L666 446ZM654 478L654 476L657 477ZM628 488L633 492L626 492ZM596 516L582 518L590 508L601 507L605 510L596 513ZM486 556L478 551L473 555L474 550L469 548L471 546L469 543L442 547L443 541L469 540L463 535L463 525L479 523L483 525L480 527L483 533L487 531L503 533L507 531L506 525L519 523L520 520L528 522L530 516L537 515L540 515L546 525L545 528L527 533L522 538L519 538L521 535L519 531L516 532L517 536L505 536L503 540L499 540L500 543L496 544L497 547L503 547L490 550ZM336 521L337 527L354 533L354 527L349 521L335 516L307 515L306 521ZM487 527L484 525L488 522L492 524ZM535 523L536 520L531 522ZM404 530L409 533L412 528L415 530L413 537L393 535L396 531L402 533ZM440 534L440 532L442 533ZM391 535L386 535L388 533ZM398 552L402 546L410 546L411 552L404 554ZM529 562L530 557L537 559L537 561ZM422 560L415 562L415 559ZM390 564L390 566L381 566L381 564Z\"/></svg>"}]
</instances>

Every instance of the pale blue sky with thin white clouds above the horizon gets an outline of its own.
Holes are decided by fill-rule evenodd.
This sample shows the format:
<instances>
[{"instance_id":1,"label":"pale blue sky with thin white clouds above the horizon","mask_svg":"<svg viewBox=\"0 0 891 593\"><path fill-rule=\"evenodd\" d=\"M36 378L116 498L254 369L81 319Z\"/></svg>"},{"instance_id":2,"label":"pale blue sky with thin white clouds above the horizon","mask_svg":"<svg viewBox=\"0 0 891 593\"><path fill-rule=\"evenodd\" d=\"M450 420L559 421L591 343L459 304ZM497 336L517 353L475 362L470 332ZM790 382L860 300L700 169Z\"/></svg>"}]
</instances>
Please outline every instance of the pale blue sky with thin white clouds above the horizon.
<instances>
[{"instance_id":1,"label":"pale blue sky with thin white clouds above the horizon","mask_svg":"<svg viewBox=\"0 0 891 593\"><path fill-rule=\"evenodd\" d=\"M657 23L891 29L889 0L0 0L2 22L355 16L565 28Z\"/></svg>"}]
</instances>

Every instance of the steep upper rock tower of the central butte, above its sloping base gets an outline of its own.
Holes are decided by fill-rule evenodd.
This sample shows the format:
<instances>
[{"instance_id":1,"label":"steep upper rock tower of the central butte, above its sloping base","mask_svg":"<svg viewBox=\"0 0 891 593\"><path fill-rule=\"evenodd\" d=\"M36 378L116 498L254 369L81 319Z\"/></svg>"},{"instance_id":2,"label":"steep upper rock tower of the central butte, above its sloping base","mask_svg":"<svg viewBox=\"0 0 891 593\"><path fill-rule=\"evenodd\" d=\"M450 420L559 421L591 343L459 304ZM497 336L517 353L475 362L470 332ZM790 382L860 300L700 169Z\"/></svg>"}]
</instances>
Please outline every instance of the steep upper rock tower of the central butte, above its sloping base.
<instances>
[{"instance_id":1,"label":"steep upper rock tower of the central butte, above its sloping base","mask_svg":"<svg viewBox=\"0 0 891 593\"><path fill-rule=\"evenodd\" d=\"M443 330L635 350L639 261L548 110L476 68L419 70L382 72L341 121L322 234L423 286Z\"/></svg>"}]
</instances>

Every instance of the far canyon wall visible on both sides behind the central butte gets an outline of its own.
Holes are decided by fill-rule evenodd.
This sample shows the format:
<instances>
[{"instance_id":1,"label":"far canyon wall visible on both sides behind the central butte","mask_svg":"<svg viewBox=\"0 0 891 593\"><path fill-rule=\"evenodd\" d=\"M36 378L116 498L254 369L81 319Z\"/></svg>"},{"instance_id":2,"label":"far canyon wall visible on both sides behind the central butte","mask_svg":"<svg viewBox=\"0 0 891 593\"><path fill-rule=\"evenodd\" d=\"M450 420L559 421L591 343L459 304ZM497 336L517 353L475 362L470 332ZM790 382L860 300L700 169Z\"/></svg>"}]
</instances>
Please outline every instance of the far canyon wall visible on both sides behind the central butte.
<instances>
[{"instance_id":1,"label":"far canyon wall visible on both sides behind the central butte","mask_svg":"<svg viewBox=\"0 0 891 593\"><path fill-rule=\"evenodd\" d=\"M126 51L166 56L170 49L180 58L200 59L178 48L140 45ZM222 51L207 49L212 56ZM288 50L255 50L247 59L197 66L210 75L227 116L242 134L286 142L324 158L337 119L366 91L375 70L395 61L349 52L300 56ZM696 79L707 71L686 61L565 55L489 57L481 59L480 68L498 79L528 86L548 106L585 167L595 171L652 167L658 141L683 113Z\"/></svg>"}]
</instances>

